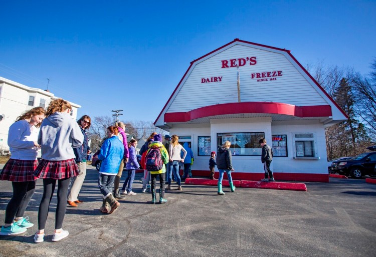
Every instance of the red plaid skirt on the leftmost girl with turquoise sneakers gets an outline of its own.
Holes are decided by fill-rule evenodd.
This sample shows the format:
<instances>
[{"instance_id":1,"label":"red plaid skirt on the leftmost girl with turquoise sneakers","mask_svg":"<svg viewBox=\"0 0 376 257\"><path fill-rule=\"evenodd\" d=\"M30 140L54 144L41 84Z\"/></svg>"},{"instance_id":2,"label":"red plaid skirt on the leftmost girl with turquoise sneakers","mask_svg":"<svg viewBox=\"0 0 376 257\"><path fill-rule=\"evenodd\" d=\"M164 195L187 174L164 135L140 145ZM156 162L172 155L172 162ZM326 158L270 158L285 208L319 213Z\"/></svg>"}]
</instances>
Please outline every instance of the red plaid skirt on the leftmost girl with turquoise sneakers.
<instances>
[{"instance_id":1,"label":"red plaid skirt on the leftmost girl with turquoise sneakers","mask_svg":"<svg viewBox=\"0 0 376 257\"><path fill-rule=\"evenodd\" d=\"M9 159L0 173L0 180L13 182L34 181L34 170L38 166L38 160Z\"/></svg>"}]
</instances>

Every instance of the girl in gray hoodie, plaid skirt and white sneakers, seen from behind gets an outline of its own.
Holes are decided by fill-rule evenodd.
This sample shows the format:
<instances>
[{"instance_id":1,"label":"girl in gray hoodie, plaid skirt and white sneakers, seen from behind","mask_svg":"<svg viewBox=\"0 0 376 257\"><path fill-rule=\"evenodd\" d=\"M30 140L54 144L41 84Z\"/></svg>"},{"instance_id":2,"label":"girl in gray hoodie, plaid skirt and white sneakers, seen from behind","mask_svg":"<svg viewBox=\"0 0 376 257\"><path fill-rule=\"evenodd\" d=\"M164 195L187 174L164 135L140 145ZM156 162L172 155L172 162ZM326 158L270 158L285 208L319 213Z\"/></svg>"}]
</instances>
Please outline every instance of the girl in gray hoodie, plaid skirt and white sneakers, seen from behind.
<instances>
[{"instance_id":1,"label":"girl in gray hoodie, plaid skirt and white sneakers, seen from behind","mask_svg":"<svg viewBox=\"0 0 376 257\"><path fill-rule=\"evenodd\" d=\"M56 206L55 233L52 241L60 241L69 232L62 229L65 210L67 208L67 193L70 178L77 176L80 171L74 160L72 147L79 147L84 142L84 135L70 113L72 106L63 99L51 101L47 108L46 119L43 120L38 136L42 148L42 161L34 175L43 179L43 196L38 211L38 231L34 236L35 242L44 240L50 200L58 181L58 202Z\"/></svg>"}]
</instances>

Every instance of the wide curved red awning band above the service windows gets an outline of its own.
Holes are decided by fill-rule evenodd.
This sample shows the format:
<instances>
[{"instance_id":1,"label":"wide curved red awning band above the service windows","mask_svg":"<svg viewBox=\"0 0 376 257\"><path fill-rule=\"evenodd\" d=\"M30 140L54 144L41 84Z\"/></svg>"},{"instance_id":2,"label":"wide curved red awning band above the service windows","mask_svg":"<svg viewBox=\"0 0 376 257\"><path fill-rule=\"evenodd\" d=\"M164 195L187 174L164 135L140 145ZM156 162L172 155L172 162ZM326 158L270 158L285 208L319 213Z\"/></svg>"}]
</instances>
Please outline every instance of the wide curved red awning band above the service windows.
<instances>
[{"instance_id":1,"label":"wide curved red awning band above the service windows","mask_svg":"<svg viewBox=\"0 0 376 257\"><path fill-rule=\"evenodd\" d=\"M205 117L239 113L281 114L301 118L329 117L331 116L331 107L330 105L295 106L292 104L270 102L216 104L201 107L189 112L165 113L164 122L188 122Z\"/></svg>"}]
</instances>

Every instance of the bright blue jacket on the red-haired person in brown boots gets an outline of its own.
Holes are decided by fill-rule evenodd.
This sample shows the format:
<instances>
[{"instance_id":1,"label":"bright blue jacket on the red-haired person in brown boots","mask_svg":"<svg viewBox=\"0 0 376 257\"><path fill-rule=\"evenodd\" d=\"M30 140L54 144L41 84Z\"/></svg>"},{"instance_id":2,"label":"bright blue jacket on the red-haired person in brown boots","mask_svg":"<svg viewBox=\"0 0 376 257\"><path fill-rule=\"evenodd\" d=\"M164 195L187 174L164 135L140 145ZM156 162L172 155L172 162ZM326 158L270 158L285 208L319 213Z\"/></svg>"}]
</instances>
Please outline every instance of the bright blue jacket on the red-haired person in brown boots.
<instances>
[{"instance_id":1,"label":"bright blue jacket on the red-haired person in brown boots","mask_svg":"<svg viewBox=\"0 0 376 257\"><path fill-rule=\"evenodd\" d=\"M123 161L124 145L118 136L113 136L103 142L98 159L102 161L99 173L116 175L120 162Z\"/></svg>"}]
</instances>

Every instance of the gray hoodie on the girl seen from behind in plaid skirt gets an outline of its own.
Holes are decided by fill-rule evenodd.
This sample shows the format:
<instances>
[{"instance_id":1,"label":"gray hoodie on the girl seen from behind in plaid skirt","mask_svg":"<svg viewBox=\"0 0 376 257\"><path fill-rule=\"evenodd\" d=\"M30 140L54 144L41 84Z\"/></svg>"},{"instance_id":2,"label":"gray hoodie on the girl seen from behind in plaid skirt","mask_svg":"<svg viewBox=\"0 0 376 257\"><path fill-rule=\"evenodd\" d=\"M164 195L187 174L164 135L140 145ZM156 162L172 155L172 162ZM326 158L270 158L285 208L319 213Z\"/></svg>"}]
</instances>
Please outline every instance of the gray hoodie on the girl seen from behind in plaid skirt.
<instances>
[{"instance_id":1,"label":"gray hoodie on the girl seen from behind in plaid skirt","mask_svg":"<svg viewBox=\"0 0 376 257\"><path fill-rule=\"evenodd\" d=\"M83 142L84 135L69 114L54 112L43 120L38 136L43 159L49 161L74 159L72 147L80 147Z\"/></svg>"}]
</instances>

